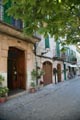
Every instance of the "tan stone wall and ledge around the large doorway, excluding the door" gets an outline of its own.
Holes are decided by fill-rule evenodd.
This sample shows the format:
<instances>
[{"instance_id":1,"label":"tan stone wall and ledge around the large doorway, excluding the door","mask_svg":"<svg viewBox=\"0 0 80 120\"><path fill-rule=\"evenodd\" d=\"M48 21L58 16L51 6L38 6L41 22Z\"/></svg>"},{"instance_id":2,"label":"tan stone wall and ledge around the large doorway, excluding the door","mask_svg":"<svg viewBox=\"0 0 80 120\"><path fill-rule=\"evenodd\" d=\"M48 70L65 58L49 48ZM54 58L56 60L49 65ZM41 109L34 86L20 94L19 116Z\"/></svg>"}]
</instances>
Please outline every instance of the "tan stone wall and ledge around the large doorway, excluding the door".
<instances>
[{"instance_id":1,"label":"tan stone wall and ledge around the large doorway, excluding the door","mask_svg":"<svg viewBox=\"0 0 80 120\"><path fill-rule=\"evenodd\" d=\"M10 47L24 51L25 54L25 76L26 88L29 88L31 71L35 66L35 55L33 45L37 38L24 37L24 35L13 27L0 22L0 74L5 77L4 86L8 86L8 52Z\"/></svg>"}]
</instances>

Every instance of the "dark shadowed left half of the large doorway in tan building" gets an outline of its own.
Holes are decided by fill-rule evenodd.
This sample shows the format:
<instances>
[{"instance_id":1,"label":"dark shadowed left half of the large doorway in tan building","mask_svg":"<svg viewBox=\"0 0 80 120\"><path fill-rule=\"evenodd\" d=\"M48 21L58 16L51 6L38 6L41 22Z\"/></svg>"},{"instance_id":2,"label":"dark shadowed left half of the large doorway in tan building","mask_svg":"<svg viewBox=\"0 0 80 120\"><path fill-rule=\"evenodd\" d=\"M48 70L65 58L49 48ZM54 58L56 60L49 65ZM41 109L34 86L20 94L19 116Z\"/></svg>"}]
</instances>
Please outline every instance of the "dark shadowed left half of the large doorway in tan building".
<instances>
[{"instance_id":1,"label":"dark shadowed left half of the large doorway in tan building","mask_svg":"<svg viewBox=\"0 0 80 120\"><path fill-rule=\"evenodd\" d=\"M8 88L17 89L17 52L10 47L8 52Z\"/></svg>"}]
</instances>

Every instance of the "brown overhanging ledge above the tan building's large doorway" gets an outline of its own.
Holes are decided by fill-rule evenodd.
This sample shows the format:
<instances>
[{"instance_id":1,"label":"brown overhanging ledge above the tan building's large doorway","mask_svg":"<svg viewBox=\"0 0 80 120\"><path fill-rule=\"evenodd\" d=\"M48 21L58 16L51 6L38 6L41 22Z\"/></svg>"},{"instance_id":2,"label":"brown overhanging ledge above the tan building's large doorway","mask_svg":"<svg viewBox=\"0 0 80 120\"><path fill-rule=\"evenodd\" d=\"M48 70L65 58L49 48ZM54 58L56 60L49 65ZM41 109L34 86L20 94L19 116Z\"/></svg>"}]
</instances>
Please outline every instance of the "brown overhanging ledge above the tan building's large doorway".
<instances>
[{"instance_id":1,"label":"brown overhanging ledge above the tan building's large doorway","mask_svg":"<svg viewBox=\"0 0 80 120\"><path fill-rule=\"evenodd\" d=\"M19 29L16 29L15 27L9 24L6 24L2 21L0 21L0 33L9 35L11 37L15 37L33 44L40 41L40 39L36 37L29 37L27 35L24 35L23 32L20 31Z\"/></svg>"}]
</instances>

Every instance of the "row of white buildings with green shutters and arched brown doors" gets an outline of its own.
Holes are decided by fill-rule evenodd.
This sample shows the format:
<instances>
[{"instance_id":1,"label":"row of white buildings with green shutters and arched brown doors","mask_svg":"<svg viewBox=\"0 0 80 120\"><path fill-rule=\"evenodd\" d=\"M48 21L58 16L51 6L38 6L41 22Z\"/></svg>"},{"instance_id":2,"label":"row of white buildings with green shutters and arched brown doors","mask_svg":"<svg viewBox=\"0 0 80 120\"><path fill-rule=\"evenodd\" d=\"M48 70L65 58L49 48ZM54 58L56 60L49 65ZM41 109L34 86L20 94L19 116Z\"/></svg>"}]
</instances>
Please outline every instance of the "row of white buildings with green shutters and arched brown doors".
<instances>
[{"instance_id":1,"label":"row of white buildings with green shutters and arched brown doors","mask_svg":"<svg viewBox=\"0 0 80 120\"><path fill-rule=\"evenodd\" d=\"M68 73L77 73L77 64L80 54L76 50L76 46L65 46L65 51L61 51L60 41L56 41L54 37L44 38L37 44L37 65L44 70L42 76L44 85L58 83L69 79Z\"/></svg>"}]
</instances>

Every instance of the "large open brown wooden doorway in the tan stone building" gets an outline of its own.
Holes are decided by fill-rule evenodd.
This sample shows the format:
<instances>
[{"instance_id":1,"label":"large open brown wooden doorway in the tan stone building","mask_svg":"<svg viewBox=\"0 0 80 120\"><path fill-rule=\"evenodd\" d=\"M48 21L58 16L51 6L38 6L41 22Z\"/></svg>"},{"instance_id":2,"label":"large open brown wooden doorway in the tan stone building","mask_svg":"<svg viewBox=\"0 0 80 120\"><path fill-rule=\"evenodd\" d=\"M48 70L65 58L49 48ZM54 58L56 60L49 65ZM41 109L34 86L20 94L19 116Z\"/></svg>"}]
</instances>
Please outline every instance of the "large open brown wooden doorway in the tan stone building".
<instances>
[{"instance_id":1,"label":"large open brown wooden doorway in the tan stone building","mask_svg":"<svg viewBox=\"0 0 80 120\"><path fill-rule=\"evenodd\" d=\"M25 53L15 47L8 50L8 78L9 91L26 89Z\"/></svg>"}]
</instances>

